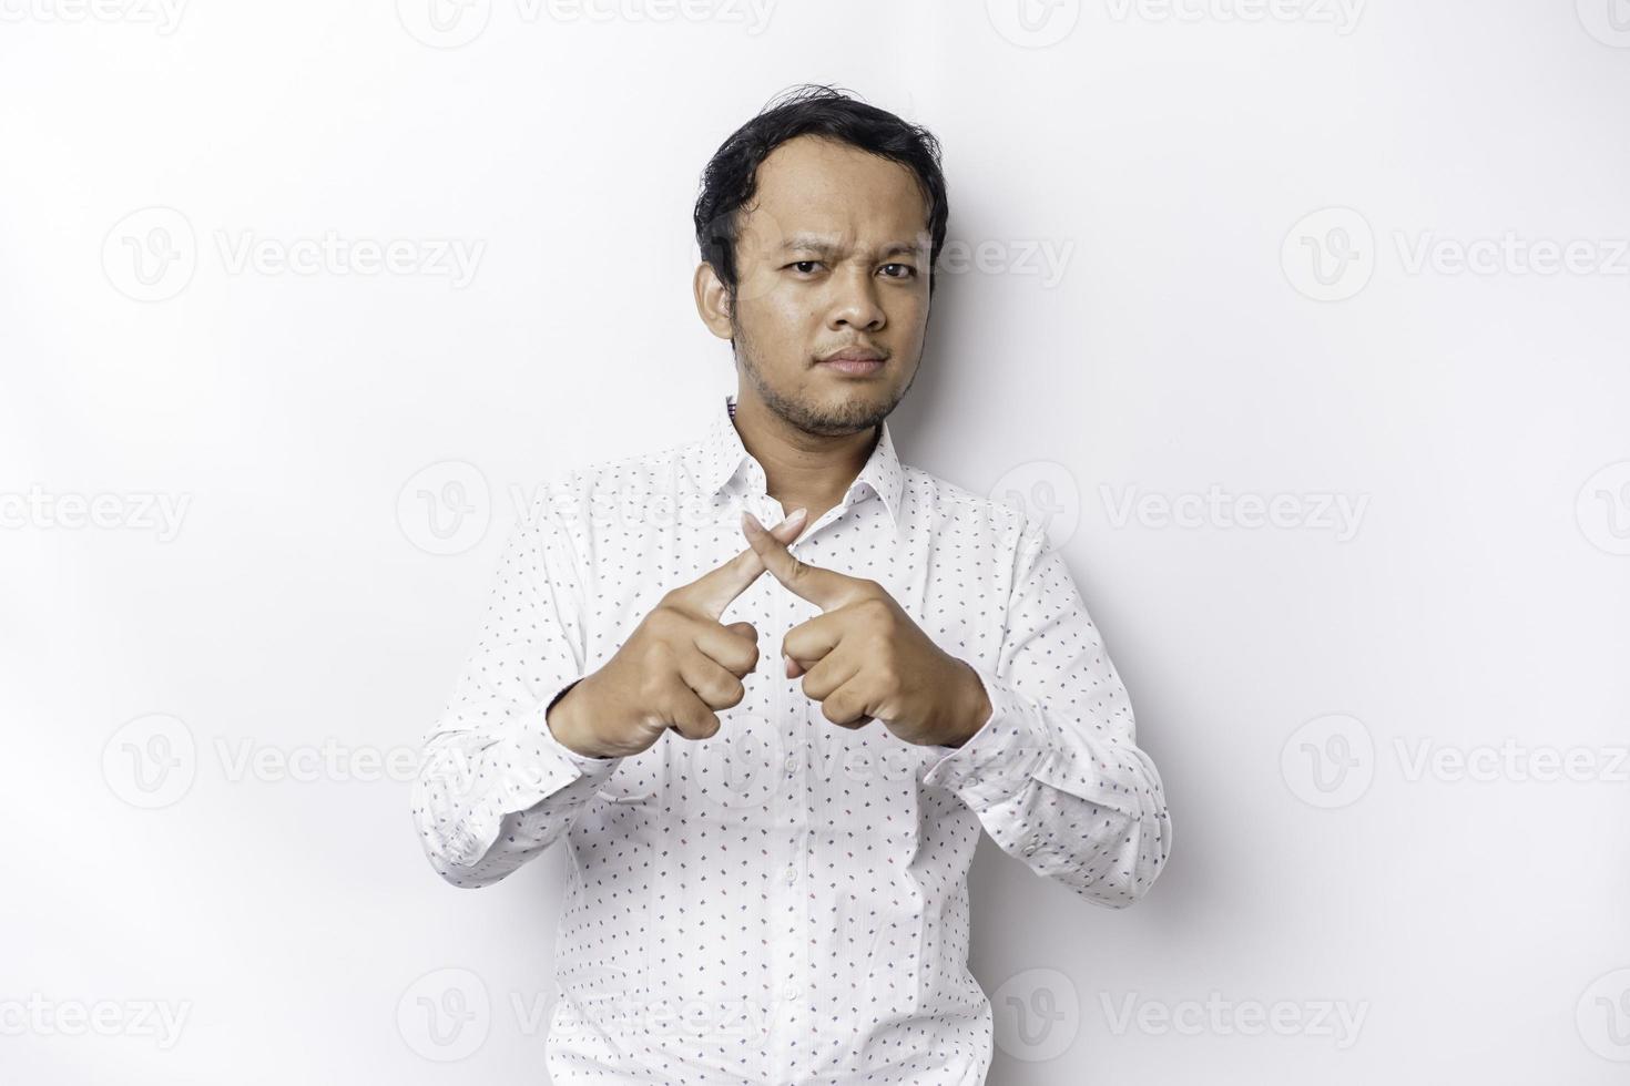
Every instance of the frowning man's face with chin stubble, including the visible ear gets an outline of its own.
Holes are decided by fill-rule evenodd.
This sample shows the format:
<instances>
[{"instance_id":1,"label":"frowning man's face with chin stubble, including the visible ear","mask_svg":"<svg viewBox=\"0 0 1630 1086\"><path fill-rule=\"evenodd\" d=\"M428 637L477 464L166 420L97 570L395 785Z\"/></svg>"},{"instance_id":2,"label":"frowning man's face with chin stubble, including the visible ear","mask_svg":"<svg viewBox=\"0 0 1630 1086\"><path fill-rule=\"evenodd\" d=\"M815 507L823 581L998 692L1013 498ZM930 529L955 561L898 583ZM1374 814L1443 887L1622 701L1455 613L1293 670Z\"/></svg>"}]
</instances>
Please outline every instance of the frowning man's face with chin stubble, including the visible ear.
<instances>
[{"instance_id":1,"label":"frowning man's face with chin stubble, including the visible ear","mask_svg":"<svg viewBox=\"0 0 1630 1086\"><path fill-rule=\"evenodd\" d=\"M740 212L734 306L698 269L698 308L735 340L747 388L807 433L877 425L905 397L927 329L927 200L900 163L800 135L758 166ZM823 361L844 348L874 366Z\"/></svg>"}]
</instances>

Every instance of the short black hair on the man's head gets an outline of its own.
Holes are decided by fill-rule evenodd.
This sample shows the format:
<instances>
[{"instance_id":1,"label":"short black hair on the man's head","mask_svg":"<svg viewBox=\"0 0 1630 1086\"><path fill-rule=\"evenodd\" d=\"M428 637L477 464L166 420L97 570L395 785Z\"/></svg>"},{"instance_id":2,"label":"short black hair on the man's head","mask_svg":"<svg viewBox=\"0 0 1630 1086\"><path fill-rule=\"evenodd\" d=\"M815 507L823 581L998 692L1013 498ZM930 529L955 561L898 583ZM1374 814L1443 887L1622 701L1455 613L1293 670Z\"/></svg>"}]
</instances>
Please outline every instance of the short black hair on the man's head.
<instances>
[{"instance_id":1,"label":"short black hair on the man's head","mask_svg":"<svg viewBox=\"0 0 1630 1086\"><path fill-rule=\"evenodd\" d=\"M877 106L820 83L804 83L776 94L756 117L730 134L703 169L701 194L693 220L703 262L735 300L735 243L740 238L738 212L751 199L758 164L797 135L823 135L896 161L913 174L927 202L929 249L927 290L934 295L934 264L945 243L945 174L941 171L939 140L919 125L908 124Z\"/></svg>"}]
</instances>

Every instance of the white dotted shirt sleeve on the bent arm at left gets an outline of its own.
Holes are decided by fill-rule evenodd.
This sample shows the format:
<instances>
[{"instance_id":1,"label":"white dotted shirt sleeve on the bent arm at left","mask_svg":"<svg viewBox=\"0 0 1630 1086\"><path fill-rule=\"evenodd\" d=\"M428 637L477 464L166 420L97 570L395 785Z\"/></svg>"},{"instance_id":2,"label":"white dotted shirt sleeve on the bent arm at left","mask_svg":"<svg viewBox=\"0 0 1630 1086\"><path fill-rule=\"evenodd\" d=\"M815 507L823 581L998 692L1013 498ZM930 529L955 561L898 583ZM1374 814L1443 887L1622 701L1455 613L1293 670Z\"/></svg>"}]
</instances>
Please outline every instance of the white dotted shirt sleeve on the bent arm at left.
<instances>
[{"instance_id":1,"label":"white dotted shirt sleeve on the bent arm at left","mask_svg":"<svg viewBox=\"0 0 1630 1086\"><path fill-rule=\"evenodd\" d=\"M424 741L412 816L437 874L497 882L548 848L621 762L562 746L544 713L584 677L570 539L544 501L504 547L476 648Z\"/></svg>"}]
</instances>

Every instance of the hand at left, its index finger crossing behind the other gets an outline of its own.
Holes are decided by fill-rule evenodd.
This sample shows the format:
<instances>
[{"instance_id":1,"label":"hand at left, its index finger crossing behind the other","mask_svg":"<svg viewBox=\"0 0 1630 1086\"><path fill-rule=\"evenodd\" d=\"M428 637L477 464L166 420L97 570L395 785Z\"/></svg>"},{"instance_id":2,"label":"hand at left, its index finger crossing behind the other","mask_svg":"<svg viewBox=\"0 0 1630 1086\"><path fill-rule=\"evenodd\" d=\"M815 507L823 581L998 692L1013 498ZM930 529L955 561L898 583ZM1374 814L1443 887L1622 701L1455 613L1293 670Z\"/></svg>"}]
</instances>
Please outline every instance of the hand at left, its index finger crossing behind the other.
<instances>
[{"instance_id":1,"label":"hand at left, its index finger crossing behind the other","mask_svg":"<svg viewBox=\"0 0 1630 1086\"><path fill-rule=\"evenodd\" d=\"M786 545L799 537L805 516L794 510L764 536ZM624 757L650 747L668 728L686 739L716 734L714 710L740 703L742 679L758 666L753 624L720 625L719 615L763 571L748 547L672 589L603 668L554 703L544 721L554 738L587 757Z\"/></svg>"}]
</instances>

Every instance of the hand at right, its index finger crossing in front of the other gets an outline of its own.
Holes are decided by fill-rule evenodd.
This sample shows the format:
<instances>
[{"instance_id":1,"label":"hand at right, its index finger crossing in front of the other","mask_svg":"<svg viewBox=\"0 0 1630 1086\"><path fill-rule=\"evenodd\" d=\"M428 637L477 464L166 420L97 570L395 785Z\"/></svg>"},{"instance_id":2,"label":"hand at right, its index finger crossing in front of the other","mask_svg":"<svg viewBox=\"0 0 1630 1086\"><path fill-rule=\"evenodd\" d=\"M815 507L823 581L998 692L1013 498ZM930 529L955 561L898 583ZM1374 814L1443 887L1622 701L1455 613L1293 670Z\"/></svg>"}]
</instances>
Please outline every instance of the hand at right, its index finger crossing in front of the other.
<instances>
[{"instance_id":1,"label":"hand at right, its index finger crossing in front of the other","mask_svg":"<svg viewBox=\"0 0 1630 1086\"><path fill-rule=\"evenodd\" d=\"M742 531L771 576L822 609L787 630L781 653L787 677L804 676L805 697L826 720L864 728L875 718L906 742L952 747L989 720L980 676L941 650L882 585L794 558L751 513L742 515Z\"/></svg>"}]
</instances>

